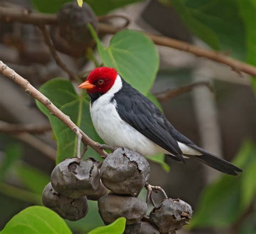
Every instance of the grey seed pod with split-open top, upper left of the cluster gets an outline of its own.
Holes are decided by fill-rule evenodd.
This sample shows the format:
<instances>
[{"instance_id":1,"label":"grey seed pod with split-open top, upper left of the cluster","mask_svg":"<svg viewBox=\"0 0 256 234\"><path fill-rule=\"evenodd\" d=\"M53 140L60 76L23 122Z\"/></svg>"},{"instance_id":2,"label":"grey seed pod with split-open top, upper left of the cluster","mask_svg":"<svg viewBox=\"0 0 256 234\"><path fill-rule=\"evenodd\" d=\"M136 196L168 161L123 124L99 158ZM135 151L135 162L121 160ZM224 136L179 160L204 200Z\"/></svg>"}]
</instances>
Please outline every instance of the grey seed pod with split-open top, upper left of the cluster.
<instances>
[{"instance_id":1,"label":"grey seed pod with split-open top, upper left of the cluster","mask_svg":"<svg viewBox=\"0 0 256 234\"><path fill-rule=\"evenodd\" d=\"M99 187L99 171L92 160L65 159L51 173L52 187L66 197L93 194Z\"/></svg>"}]
</instances>

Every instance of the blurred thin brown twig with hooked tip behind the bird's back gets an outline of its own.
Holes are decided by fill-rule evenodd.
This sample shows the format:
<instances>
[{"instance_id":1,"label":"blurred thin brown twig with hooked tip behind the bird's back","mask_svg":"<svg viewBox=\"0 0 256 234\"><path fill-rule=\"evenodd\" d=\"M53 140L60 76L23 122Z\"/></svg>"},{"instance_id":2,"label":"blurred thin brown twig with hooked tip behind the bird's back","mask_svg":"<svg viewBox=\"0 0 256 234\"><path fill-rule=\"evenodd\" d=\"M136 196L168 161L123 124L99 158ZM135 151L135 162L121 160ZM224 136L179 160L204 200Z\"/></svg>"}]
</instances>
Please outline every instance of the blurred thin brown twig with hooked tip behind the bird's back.
<instances>
[{"instance_id":1,"label":"blurred thin brown twig with hooked tip behind the bird's back","mask_svg":"<svg viewBox=\"0 0 256 234\"><path fill-rule=\"evenodd\" d=\"M156 93L154 95L156 96L158 101L165 102L165 101L169 100L170 98L174 98L180 94L190 92L191 90L193 90L194 87L197 87L197 86L206 86L206 87L208 87L208 89L211 92L213 92L213 87L211 86L210 82L201 81L201 82L196 82L191 85L182 86L182 87L179 87L179 88L176 88L173 90L167 90L164 92Z\"/></svg>"}]
</instances>

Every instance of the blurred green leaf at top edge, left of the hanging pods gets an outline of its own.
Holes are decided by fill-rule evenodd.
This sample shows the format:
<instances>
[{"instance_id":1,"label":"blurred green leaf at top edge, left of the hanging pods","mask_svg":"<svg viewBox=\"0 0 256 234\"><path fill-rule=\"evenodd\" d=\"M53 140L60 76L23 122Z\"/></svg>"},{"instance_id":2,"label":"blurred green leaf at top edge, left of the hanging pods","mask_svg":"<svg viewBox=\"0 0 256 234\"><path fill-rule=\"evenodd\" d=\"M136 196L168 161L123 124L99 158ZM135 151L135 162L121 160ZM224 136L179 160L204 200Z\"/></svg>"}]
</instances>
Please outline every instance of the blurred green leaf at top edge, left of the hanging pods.
<instances>
[{"instance_id":1,"label":"blurred green leaf at top edge, left of the hanging pods","mask_svg":"<svg viewBox=\"0 0 256 234\"><path fill-rule=\"evenodd\" d=\"M56 13L63 4L71 2L71 0L31 0L33 6L44 13Z\"/></svg>"}]
</instances>

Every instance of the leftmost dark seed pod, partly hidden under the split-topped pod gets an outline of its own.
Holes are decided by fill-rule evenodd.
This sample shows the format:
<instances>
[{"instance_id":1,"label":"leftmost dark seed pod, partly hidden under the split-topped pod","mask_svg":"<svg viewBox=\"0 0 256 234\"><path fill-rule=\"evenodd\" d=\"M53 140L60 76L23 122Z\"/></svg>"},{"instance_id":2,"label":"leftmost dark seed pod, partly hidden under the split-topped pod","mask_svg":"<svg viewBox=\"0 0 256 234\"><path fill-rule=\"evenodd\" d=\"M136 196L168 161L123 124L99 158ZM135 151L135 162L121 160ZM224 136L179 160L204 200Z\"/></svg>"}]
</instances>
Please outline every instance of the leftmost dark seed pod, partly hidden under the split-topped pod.
<instances>
[{"instance_id":1,"label":"leftmost dark seed pod, partly hidden under the split-topped pod","mask_svg":"<svg viewBox=\"0 0 256 234\"><path fill-rule=\"evenodd\" d=\"M77 221L85 217L89 209L86 197L77 199L65 197L52 188L51 182L43 190L42 201L45 207L54 210L60 217L70 221Z\"/></svg>"}]
</instances>

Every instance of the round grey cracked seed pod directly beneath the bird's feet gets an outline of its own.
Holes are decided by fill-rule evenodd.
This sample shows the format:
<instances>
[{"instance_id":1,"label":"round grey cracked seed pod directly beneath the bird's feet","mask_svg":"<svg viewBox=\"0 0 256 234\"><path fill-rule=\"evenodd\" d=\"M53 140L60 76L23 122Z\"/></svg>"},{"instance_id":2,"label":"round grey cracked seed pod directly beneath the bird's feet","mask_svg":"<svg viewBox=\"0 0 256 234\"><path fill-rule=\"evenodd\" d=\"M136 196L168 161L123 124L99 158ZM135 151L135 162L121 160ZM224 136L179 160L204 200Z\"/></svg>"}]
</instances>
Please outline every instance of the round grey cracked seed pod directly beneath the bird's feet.
<instances>
[{"instance_id":1,"label":"round grey cracked seed pod directly beneath the bird's feet","mask_svg":"<svg viewBox=\"0 0 256 234\"><path fill-rule=\"evenodd\" d=\"M145 157L126 148L117 148L107 155L100 168L102 183L115 194L138 194L149 176L150 166Z\"/></svg>"}]
</instances>

